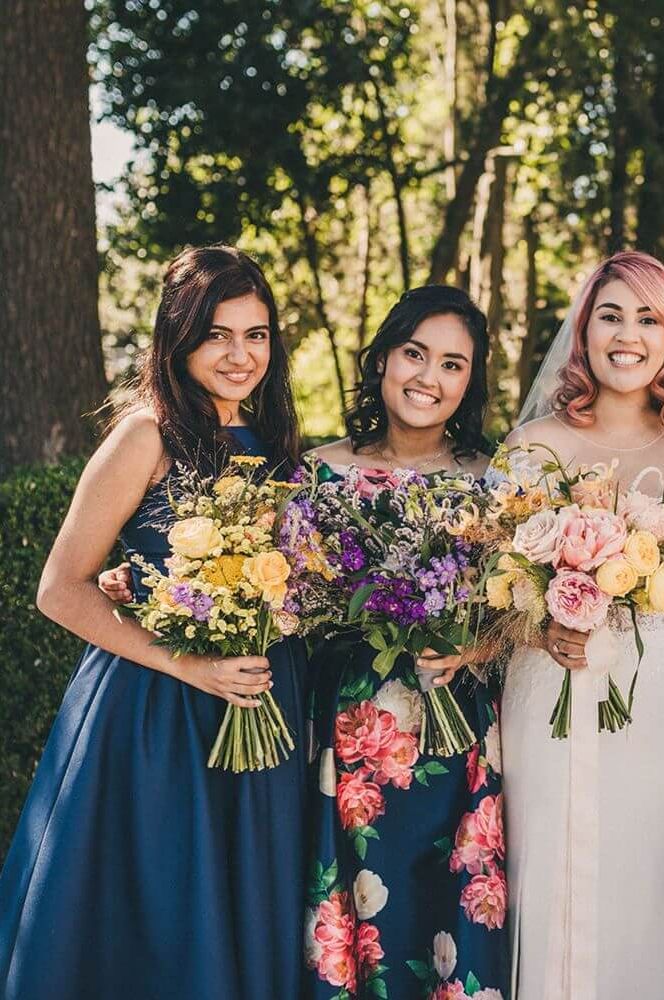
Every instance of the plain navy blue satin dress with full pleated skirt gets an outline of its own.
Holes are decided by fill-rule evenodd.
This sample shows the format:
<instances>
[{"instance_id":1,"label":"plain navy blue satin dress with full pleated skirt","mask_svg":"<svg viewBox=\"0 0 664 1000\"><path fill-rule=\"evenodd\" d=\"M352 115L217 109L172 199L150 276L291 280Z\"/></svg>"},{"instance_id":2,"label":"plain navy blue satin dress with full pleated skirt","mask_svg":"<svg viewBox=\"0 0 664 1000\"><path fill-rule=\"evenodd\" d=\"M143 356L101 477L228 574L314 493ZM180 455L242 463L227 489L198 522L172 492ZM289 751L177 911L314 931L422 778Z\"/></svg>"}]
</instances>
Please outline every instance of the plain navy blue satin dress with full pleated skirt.
<instances>
[{"instance_id":1,"label":"plain navy blue satin dress with full pleated skirt","mask_svg":"<svg viewBox=\"0 0 664 1000\"><path fill-rule=\"evenodd\" d=\"M157 564L159 506L161 485L122 532ZM87 647L0 878L3 1000L299 996L306 660L295 641L270 660L297 749L233 775L206 766L223 700Z\"/></svg>"}]
</instances>

